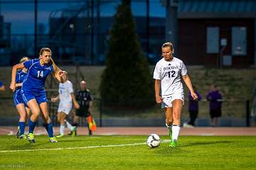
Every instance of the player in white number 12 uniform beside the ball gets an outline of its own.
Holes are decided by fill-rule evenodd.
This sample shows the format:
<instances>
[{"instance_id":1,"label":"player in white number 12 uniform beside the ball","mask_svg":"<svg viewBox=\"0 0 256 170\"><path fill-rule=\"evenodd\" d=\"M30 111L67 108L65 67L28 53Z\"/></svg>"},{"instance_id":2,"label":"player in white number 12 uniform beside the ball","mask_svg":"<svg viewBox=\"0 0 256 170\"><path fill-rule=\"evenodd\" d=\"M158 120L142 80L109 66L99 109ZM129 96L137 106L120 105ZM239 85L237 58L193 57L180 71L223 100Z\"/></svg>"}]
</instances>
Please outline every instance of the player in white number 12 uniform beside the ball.
<instances>
[{"instance_id":1,"label":"player in white number 12 uniform beside the ball","mask_svg":"<svg viewBox=\"0 0 256 170\"><path fill-rule=\"evenodd\" d=\"M196 100L198 96L193 91L185 64L173 56L174 46L171 42L164 43L161 51L163 58L156 63L154 69L156 103L161 103L162 108L166 108L166 126L169 128L171 137L169 147L176 147L178 133L181 129L181 110L184 102L181 78L191 91L193 100Z\"/></svg>"}]
</instances>

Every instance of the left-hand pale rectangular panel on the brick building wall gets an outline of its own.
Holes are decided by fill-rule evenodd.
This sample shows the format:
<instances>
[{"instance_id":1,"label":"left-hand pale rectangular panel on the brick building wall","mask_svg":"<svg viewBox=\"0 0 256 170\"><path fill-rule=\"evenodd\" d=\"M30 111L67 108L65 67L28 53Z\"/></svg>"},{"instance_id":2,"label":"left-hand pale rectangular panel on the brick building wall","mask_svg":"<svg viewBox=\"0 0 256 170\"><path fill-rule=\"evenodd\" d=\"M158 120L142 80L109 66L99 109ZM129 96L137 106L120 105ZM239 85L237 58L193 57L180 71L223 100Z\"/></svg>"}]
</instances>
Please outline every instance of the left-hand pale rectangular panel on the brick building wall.
<instances>
[{"instance_id":1,"label":"left-hand pale rectangular panel on the brick building wall","mask_svg":"<svg viewBox=\"0 0 256 170\"><path fill-rule=\"evenodd\" d=\"M206 30L207 34L207 53L218 53L219 52L219 34L220 29L218 27L208 27Z\"/></svg>"}]
</instances>

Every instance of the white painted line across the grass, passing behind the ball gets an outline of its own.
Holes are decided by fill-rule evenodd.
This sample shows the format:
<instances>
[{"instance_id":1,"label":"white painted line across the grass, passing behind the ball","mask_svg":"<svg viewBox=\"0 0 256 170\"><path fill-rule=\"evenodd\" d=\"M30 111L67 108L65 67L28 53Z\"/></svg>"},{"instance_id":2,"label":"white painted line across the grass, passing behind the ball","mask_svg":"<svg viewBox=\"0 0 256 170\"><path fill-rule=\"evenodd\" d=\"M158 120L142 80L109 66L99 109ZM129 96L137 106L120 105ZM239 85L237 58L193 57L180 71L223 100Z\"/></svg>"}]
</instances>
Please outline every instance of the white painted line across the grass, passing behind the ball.
<instances>
[{"instance_id":1,"label":"white painted line across the grass, passing behind the ball","mask_svg":"<svg viewBox=\"0 0 256 170\"><path fill-rule=\"evenodd\" d=\"M171 140L162 140L161 143L171 142ZM23 150L4 150L0 153L6 152L31 152L31 151L48 151L48 150L64 150L64 149L90 149L99 147L126 147L126 146L136 146L136 145L146 145L146 142L142 143L132 143L132 144L121 144L121 145L99 145L99 146L89 146L89 147L58 147L58 148L44 148L44 149L23 149Z\"/></svg>"}]
</instances>

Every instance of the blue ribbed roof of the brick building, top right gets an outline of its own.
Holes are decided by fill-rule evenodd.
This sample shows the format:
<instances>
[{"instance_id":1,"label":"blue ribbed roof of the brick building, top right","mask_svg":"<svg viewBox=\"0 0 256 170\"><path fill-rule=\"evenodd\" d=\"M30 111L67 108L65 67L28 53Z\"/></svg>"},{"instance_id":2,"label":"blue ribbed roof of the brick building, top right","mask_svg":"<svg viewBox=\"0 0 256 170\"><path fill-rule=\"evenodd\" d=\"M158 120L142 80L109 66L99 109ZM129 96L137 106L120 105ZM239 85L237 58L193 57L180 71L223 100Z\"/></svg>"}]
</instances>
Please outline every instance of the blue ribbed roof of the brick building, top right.
<instances>
[{"instance_id":1,"label":"blue ribbed roof of the brick building, top right","mask_svg":"<svg viewBox=\"0 0 256 170\"><path fill-rule=\"evenodd\" d=\"M255 0L180 0L179 18L256 18Z\"/></svg>"}]
</instances>

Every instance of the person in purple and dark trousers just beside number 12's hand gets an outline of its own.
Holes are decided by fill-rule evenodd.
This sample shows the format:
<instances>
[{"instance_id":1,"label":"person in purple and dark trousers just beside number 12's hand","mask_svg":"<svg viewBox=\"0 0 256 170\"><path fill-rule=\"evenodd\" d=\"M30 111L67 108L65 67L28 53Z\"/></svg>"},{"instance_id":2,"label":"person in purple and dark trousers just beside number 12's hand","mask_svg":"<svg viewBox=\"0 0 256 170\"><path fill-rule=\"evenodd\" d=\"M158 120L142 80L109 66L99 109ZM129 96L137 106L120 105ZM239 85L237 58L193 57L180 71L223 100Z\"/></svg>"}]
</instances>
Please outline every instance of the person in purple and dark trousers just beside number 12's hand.
<instances>
[{"instance_id":1,"label":"person in purple and dark trousers just beside number 12's hand","mask_svg":"<svg viewBox=\"0 0 256 170\"><path fill-rule=\"evenodd\" d=\"M196 90L196 86L193 86L193 89L198 96L198 100L194 101L190 91L188 91L188 112L190 120L188 123L183 124L183 127L185 128L193 128L195 126L195 121L198 117L198 101L202 100L202 96Z\"/></svg>"}]
</instances>

